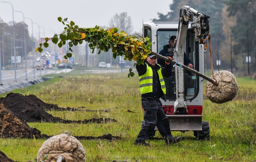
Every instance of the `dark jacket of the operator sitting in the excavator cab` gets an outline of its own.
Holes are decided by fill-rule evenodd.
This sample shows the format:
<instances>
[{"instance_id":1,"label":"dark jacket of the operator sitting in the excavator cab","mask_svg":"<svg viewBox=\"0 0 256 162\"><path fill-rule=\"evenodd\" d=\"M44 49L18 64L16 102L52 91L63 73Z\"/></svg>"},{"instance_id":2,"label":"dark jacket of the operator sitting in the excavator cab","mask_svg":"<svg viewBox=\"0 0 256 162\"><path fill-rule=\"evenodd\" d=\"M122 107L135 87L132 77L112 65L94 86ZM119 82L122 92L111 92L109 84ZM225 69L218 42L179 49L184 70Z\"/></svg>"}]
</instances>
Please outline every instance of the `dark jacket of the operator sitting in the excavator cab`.
<instances>
[{"instance_id":1,"label":"dark jacket of the operator sitting in the excavator cab","mask_svg":"<svg viewBox=\"0 0 256 162\"><path fill-rule=\"evenodd\" d=\"M169 44L166 44L163 46L163 49L159 52L160 55L162 56L169 56L171 58L173 58L173 53L169 53L168 52L168 48L170 48ZM161 66L165 66L165 60L163 60L162 58L157 58L157 64L160 64ZM187 54L184 52L184 65L188 65L188 64L193 64L190 59L187 57Z\"/></svg>"}]
</instances>

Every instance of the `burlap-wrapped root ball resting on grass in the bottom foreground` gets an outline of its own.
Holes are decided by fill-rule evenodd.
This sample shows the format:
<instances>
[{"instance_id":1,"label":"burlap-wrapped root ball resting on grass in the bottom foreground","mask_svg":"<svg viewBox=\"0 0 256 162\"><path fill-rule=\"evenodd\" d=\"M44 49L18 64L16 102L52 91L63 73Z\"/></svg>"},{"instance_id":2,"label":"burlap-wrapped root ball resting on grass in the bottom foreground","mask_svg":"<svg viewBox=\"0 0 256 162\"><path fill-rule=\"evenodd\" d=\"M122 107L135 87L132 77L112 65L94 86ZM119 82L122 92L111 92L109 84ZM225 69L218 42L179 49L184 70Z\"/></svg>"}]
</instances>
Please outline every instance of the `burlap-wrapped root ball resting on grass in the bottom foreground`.
<instances>
[{"instance_id":1,"label":"burlap-wrapped root ball resting on grass in the bottom foreground","mask_svg":"<svg viewBox=\"0 0 256 162\"><path fill-rule=\"evenodd\" d=\"M82 144L69 134L59 134L44 141L38 151L37 161L48 158L44 162L56 161L59 156L65 158L65 162L85 161L86 152Z\"/></svg>"}]
</instances>

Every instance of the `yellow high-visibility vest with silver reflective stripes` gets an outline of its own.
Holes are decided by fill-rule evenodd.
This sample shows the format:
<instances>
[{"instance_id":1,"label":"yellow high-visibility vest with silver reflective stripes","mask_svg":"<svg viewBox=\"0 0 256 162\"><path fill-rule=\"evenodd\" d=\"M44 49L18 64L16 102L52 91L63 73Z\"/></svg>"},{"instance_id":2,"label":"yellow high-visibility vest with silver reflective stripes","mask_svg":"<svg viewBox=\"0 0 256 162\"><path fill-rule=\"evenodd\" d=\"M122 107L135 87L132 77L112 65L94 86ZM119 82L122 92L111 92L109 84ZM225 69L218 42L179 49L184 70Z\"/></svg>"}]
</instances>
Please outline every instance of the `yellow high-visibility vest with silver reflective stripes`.
<instances>
[{"instance_id":1,"label":"yellow high-visibility vest with silver reflective stripes","mask_svg":"<svg viewBox=\"0 0 256 162\"><path fill-rule=\"evenodd\" d=\"M150 66L148 66L147 63L147 72L143 74L142 76L139 76L139 87L140 87L140 93L148 93L148 92L153 92L153 70L151 69ZM160 65L159 65L160 66ZM161 67L161 66L160 66ZM165 83L163 80L163 75L161 72L161 68L157 70L160 84L161 84L161 89L163 91L163 94L166 94L166 88L165 88ZM138 74L139 75L139 74Z\"/></svg>"}]
</instances>

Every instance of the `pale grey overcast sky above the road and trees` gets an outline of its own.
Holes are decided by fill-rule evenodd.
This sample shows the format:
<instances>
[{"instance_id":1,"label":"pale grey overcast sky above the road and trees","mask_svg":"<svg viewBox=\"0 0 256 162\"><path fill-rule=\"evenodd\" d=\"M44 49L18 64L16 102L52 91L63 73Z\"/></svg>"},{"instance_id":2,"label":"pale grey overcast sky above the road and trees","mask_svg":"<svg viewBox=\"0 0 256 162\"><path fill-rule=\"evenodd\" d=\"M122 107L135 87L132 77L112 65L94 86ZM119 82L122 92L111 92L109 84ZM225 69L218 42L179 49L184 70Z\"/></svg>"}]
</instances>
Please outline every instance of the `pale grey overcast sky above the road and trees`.
<instances>
[{"instance_id":1,"label":"pale grey overcast sky above the road and trees","mask_svg":"<svg viewBox=\"0 0 256 162\"><path fill-rule=\"evenodd\" d=\"M158 18L157 12L167 14L172 0L0 0L10 2L14 10L23 12L25 17L38 23L41 37L52 37L53 30L59 34L64 25L57 17L68 18L76 25L90 28L96 25L108 26L110 19L116 14L127 12L131 17L133 29L142 31L142 22ZM11 4L0 2L0 17L6 22L13 21ZM14 12L14 21L23 21L20 12ZM29 34L32 33L31 20L25 19L28 24ZM52 30L51 30L52 29ZM33 24L34 37L38 37L38 25Z\"/></svg>"}]
</instances>

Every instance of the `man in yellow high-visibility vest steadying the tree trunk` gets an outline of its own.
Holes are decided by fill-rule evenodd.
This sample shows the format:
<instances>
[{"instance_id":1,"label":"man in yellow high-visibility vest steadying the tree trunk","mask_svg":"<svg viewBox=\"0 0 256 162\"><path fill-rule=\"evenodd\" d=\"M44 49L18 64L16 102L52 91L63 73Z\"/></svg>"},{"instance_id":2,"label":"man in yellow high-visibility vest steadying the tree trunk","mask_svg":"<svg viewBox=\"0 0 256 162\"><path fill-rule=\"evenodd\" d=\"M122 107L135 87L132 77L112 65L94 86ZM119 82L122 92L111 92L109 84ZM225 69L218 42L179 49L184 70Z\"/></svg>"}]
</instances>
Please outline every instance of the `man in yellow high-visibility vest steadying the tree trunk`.
<instances>
[{"instance_id":1,"label":"man in yellow high-visibility vest steadying the tree trunk","mask_svg":"<svg viewBox=\"0 0 256 162\"><path fill-rule=\"evenodd\" d=\"M146 143L145 140L151 137L155 126L157 126L166 144L177 143L181 140L181 137L174 138L172 136L169 120L163 112L160 101L160 98L164 98L164 94L166 93L163 77L172 75L172 66L168 61L165 62L165 67L161 67L156 62L157 56L149 54L144 64L136 65L145 121L134 142L136 145L148 146L149 143ZM161 122L157 122L158 120L161 120Z\"/></svg>"}]
</instances>

